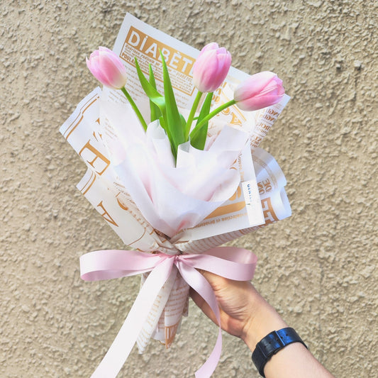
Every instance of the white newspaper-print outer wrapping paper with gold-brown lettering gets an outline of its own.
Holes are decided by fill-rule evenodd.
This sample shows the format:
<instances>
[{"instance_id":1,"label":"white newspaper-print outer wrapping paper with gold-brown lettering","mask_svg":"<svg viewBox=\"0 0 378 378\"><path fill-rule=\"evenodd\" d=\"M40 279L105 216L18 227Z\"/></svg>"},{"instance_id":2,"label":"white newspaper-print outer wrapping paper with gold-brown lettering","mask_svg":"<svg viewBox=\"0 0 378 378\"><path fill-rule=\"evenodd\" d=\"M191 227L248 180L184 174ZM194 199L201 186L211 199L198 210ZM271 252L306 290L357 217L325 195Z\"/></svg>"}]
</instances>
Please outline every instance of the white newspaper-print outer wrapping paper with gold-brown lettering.
<instances>
[{"instance_id":1,"label":"white newspaper-print outer wrapping paper with gold-brown lettering","mask_svg":"<svg viewBox=\"0 0 378 378\"><path fill-rule=\"evenodd\" d=\"M199 52L127 14L113 50L125 61L128 69L126 87L145 114L149 111L148 101L145 101L138 84L133 57L138 57L145 72L148 63L154 67L157 86L162 91L158 49L165 54L177 102L185 108L194 98L191 67ZM180 59L179 62L177 59ZM232 88L247 76L231 67L225 84L214 93L213 106L220 101L228 101L232 96ZM114 156L109 156L109 138L112 139L113 130L109 127L103 109L104 104L118 108L125 106L122 94L107 88L103 91L96 88L79 103L60 131L88 167L77 185L78 189L123 243L137 251L159 251L167 255L183 252L198 254L291 215L284 191L284 175L274 158L258 147L287 101L289 96L285 95L279 104L255 112L243 112L232 106L211 120L209 140L219 135L226 125L248 133L250 145L243 149L235 166L240 174L239 187L203 221L194 227L180 230L170 240L145 221L130 193L111 174L116 162ZM147 277L148 274L143 274L142 284ZM145 350L151 337L165 343L167 348L171 345L182 316L187 314L188 291L187 282L173 269L156 296L148 320L138 335L140 352Z\"/></svg>"}]
</instances>

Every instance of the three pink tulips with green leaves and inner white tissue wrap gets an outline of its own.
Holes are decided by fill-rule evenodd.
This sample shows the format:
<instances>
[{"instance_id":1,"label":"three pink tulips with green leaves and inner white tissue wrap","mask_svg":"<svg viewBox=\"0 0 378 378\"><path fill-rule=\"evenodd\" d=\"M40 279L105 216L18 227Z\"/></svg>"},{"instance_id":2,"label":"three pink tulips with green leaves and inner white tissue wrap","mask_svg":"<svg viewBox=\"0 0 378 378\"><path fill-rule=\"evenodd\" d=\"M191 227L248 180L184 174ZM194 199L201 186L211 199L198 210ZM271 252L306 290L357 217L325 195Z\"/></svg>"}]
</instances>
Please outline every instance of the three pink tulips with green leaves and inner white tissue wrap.
<instances>
[{"instance_id":1,"label":"three pink tulips with green leaves and inner white tissue wrap","mask_svg":"<svg viewBox=\"0 0 378 378\"><path fill-rule=\"evenodd\" d=\"M116 146L108 146L118 177L127 177L121 184L144 218L172 238L179 230L196 226L221 206L240 183L234 164L248 134L225 126L216 138L208 140L211 118L234 104L243 111L276 104L284 96L284 88L273 72L253 74L235 89L231 101L211 109L213 91L226 79L231 55L217 43L209 43L194 63L193 83L198 93L185 119L175 101L165 57L160 57L164 94L156 89L152 67L146 78L135 58L140 84L150 101L149 123L126 89L126 69L118 55L108 48L99 48L87 59L87 66L106 87L120 89L133 110L133 114L126 109L115 116L116 111L104 105L112 133L118 135L118 141L122 140ZM131 121L134 118L138 121Z\"/></svg>"}]
</instances>

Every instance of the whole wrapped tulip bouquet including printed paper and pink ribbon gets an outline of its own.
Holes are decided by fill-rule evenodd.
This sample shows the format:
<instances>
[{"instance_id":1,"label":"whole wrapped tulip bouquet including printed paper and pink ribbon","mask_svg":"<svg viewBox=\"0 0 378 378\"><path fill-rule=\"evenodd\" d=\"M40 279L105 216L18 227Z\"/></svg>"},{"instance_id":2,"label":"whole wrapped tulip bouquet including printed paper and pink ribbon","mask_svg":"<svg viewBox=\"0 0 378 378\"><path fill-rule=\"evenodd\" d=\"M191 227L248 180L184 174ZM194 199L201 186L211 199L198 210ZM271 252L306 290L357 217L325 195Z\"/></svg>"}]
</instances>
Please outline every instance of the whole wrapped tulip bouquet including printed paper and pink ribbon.
<instances>
[{"instance_id":1,"label":"whole wrapped tulip bouquet including printed paper and pink ribbon","mask_svg":"<svg viewBox=\"0 0 378 378\"><path fill-rule=\"evenodd\" d=\"M152 33L152 43L160 36L166 43L165 52L171 43L175 46L172 51L182 48L184 55L185 46L131 15L124 24L127 27L122 26L118 35L118 52L120 45L129 45L123 52L99 48L87 59L91 73L108 89L92 91L61 128L88 166L78 188L133 249L86 253L80 258L82 279L142 274L140 293L94 378L116 377L135 343L140 352L150 338L168 348L187 312L189 287L209 304L220 325L216 297L197 269L228 279L252 279L256 264L252 252L218 245L289 216L287 198L283 200L286 194L282 194L286 180L277 162L267 152L255 150L255 155L260 155L254 167L251 152L289 99L277 74L248 76L240 72L236 81L247 78L231 89L224 83L230 52L209 43L193 61L191 74L186 73L185 80L192 77L191 89L183 91L180 103L174 91L178 80L173 81L174 87L172 71L169 74L172 59L167 64L164 51L160 60L147 52L139 59L125 54L138 45L138 33L144 35L142 45ZM152 45L148 51L155 51ZM193 49L191 53L194 55ZM153 62L155 67L143 65L140 57L147 57L145 62ZM125 62L133 66L129 71ZM161 75L156 76L160 63ZM135 99L140 93L144 100L140 96ZM226 101L222 104L220 99ZM233 127L225 116L232 113L228 108L234 111L235 106L245 120L240 127ZM265 108L255 113L256 118L251 116L248 129L248 116L243 112ZM263 117L269 118L269 123L261 121ZM263 210L263 206L267 208ZM253 218L251 213L258 214ZM206 223L209 218L212 224ZM219 326L216 347L196 372L197 378L211 376L220 353Z\"/></svg>"}]
</instances>

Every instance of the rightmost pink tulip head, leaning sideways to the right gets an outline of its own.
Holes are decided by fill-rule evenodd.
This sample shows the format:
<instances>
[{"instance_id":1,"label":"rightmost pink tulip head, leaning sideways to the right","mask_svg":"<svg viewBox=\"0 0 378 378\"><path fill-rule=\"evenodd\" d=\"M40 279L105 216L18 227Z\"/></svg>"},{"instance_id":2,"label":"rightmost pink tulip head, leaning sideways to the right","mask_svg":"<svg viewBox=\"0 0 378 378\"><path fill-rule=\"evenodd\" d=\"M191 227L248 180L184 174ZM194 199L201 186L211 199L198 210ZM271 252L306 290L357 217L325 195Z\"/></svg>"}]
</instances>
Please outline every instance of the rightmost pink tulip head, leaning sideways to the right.
<instances>
[{"instance_id":1,"label":"rightmost pink tulip head, leaning sideways to the right","mask_svg":"<svg viewBox=\"0 0 378 378\"><path fill-rule=\"evenodd\" d=\"M245 111L253 111L277 104L284 96L282 80L274 72L253 74L238 85L233 94L236 105Z\"/></svg>"}]
</instances>

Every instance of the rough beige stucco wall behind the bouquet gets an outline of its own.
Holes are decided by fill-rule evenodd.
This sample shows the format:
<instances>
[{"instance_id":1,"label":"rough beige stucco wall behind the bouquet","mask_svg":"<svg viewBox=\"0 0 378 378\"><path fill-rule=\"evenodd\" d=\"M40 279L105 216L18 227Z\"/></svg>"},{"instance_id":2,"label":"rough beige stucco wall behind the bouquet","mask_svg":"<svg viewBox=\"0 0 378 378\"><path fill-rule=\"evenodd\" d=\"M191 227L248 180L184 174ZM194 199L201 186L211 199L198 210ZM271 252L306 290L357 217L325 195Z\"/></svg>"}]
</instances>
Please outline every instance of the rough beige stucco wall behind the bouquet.
<instances>
[{"instance_id":1,"label":"rough beige stucco wall behind the bouquet","mask_svg":"<svg viewBox=\"0 0 378 378\"><path fill-rule=\"evenodd\" d=\"M249 73L277 72L291 101L262 145L293 215L236 240L253 283L336 377L377 374L377 1L2 0L0 377L89 377L139 279L83 282L79 256L123 248L75 185L84 163L58 133L97 83L85 57L126 12ZM194 377L216 340L194 304L165 350L136 348L119 377ZM213 377L257 377L224 334Z\"/></svg>"}]
</instances>

